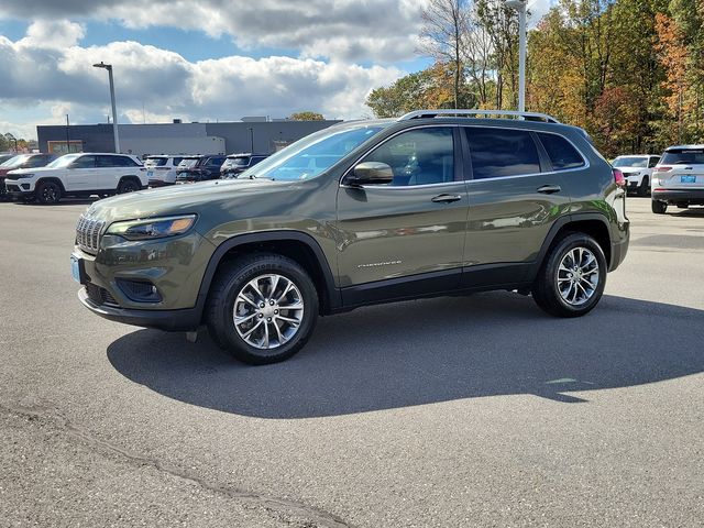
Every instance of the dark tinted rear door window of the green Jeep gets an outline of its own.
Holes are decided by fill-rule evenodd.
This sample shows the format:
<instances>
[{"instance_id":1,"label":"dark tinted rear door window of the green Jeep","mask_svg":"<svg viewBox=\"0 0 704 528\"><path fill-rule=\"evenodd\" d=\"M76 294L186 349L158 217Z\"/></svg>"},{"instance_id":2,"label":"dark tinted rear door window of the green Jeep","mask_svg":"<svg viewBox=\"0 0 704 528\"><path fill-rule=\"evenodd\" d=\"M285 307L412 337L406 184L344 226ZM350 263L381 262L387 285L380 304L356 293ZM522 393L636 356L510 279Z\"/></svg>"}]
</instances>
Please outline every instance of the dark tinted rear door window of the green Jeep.
<instances>
[{"instance_id":1,"label":"dark tinted rear door window of the green Jeep","mask_svg":"<svg viewBox=\"0 0 704 528\"><path fill-rule=\"evenodd\" d=\"M538 148L525 130L464 128L474 179L540 173Z\"/></svg>"}]
</instances>

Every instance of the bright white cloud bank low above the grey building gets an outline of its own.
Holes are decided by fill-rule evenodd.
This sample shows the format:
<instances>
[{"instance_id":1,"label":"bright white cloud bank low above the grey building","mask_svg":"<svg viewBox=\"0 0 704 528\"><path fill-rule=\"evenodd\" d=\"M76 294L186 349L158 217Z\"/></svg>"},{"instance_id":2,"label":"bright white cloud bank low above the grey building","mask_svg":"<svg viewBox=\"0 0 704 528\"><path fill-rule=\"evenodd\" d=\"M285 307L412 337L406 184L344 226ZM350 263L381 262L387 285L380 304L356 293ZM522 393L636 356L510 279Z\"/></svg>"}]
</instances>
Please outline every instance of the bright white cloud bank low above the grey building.
<instances>
[{"instance_id":1,"label":"bright white cloud bank low above the grey building","mask_svg":"<svg viewBox=\"0 0 704 528\"><path fill-rule=\"evenodd\" d=\"M0 107L51 105L42 124L61 124L66 113L72 123L103 122L109 111L108 76L92 67L103 61L114 67L121 121L142 122L142 108L147 122L286 117L300 110L354 119L369 113L364 100L371 89L403 75L393 66L365 67L337 59L230 56L189 62L136 42L81 47L80 35L80 25L61 20L35 22L16 42L0 35L0 68L7 74L0 82ZM28 129L35 124L22 125L22 135L35 136Z\"/></svg>"}]
</instances>

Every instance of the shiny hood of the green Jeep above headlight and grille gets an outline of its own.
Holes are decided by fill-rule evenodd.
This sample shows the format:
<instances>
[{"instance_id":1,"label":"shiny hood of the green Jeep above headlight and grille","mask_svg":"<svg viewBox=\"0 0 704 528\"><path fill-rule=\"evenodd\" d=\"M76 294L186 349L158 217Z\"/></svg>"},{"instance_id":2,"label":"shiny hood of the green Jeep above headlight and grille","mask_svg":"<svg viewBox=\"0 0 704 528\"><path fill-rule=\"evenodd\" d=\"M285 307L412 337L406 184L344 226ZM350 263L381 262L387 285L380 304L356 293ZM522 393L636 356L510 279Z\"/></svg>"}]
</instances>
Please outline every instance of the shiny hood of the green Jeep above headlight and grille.
<instances>
[{"instance_id":1,"label":"shiny hood of the green Jeep above headlight and grille","mask_svg":"<svg viewBox=\"0 0 704 528\"><path fill-rule=\"evenodd\" d=\"M112 222L141 218L198 213L218 202L251 200L253 196L288 189L296 182L271 179L213 180L191 185L160 187L118 195L96 201L86 216Z\"/></svg>"}]
</instances>

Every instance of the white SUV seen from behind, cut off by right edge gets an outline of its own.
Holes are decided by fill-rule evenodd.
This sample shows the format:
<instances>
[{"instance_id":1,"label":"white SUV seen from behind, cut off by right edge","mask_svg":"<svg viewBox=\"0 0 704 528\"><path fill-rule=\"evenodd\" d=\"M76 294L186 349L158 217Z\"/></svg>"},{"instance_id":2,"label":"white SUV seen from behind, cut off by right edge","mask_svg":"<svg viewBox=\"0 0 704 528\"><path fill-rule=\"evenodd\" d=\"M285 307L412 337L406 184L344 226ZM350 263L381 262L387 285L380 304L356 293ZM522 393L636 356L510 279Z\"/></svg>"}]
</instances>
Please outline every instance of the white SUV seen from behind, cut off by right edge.
<instances>
[{"instance_id":1,"label":"white SUV seen from behind, cut off by right edge","mask_svg":"<svg viewBox=\"0 0 704 528\"><path fill-rule=\"evenodd\" d=\"M666 148L652 174L652 212L704 206L704 145Z\"/></svg>"}]
</instances>

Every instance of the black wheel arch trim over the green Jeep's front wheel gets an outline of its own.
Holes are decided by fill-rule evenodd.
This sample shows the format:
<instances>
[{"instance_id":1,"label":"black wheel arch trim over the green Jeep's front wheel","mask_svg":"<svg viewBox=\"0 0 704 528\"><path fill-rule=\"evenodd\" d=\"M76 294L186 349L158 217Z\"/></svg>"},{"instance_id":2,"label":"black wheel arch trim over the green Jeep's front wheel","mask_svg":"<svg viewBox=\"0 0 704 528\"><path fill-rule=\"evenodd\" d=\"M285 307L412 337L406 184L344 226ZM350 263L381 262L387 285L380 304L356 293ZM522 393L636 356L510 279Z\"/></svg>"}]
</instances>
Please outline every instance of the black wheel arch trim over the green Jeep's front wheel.
<instances>
[{"instance_id":1,"label":"black wheel arch trim over the green Jeep's front wheel","mask_svg":"<svg viewBox=\"0 0 704 528\"><path fill-rule=\"evenodd\" d=\"M215 251L200 283L198 299L205 307L210 285L218 268L242 254L276 253L297 262L310 275L318 290L320 314L331 314L341 306L340 292L334 286L330 264L318 242L300 231L266 231L232 237Z\"/></svg>"}]
</instances>

